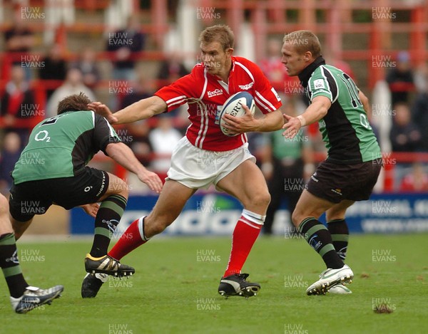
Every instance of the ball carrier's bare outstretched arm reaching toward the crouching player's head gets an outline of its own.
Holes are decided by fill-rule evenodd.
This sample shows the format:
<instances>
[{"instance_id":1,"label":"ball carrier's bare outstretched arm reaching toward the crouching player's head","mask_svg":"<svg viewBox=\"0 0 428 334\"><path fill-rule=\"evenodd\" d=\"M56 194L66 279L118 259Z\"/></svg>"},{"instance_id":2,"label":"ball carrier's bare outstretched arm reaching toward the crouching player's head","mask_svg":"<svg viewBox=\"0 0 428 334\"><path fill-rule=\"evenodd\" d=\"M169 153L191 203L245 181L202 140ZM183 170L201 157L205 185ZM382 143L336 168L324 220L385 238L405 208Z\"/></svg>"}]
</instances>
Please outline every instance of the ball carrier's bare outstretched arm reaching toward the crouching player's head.
<instances>
[{"instance_id":1,"label":"ball carrier's bare outstretched arm reaching toward the crouching player's head","mask_svg":"<svg viewBox=\"0 0 428 334\"><path fill-rule=\"evenodd\" d=\"M137 120L146 120L153 115L163 113L167 106L164 100L155 95L128 105L128 107L114 114L101 102L89 103L88 108L105 117L111 124L124 124L136 122Z\"/></svg>"}]
</instances>

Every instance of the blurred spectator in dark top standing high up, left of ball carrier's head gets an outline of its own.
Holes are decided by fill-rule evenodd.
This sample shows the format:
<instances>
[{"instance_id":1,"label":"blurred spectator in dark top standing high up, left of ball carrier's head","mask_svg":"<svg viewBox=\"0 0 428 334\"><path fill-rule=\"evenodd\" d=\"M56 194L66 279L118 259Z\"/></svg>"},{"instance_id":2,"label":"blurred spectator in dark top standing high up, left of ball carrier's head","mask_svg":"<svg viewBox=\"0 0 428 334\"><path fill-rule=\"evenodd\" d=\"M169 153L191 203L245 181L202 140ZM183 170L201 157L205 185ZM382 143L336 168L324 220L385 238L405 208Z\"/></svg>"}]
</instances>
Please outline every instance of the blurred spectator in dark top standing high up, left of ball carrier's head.
<instances>
[{"instance_id":1,"label":"blurred spectator in dark top standing high up, left of ball carrier's head","mask_svg":"<svg viewBox=\"0 0 428 334\"><path fill-rule=\"evenodd\" d=\"M108 34L107 51L112 52L114 80L135 79L135 56L143 50L145 42L146 36L136 15L129 17L125 29Z\"/></svg>"}]
</instances>

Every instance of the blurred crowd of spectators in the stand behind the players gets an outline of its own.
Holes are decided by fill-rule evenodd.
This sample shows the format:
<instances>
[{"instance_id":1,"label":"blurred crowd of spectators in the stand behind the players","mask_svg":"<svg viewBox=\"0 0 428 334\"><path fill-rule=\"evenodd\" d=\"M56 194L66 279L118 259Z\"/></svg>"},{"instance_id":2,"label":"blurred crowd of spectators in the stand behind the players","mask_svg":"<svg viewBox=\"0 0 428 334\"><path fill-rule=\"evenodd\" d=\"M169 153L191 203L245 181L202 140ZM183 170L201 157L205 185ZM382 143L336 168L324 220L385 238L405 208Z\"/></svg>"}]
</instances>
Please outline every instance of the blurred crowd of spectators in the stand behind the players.
<instances>
[{"instance_id":1,"label":"blurred crowd of spectators in the stand behind the players","mask_svg":"<svg viewBox=\"0 0 428 334\"><path fill-rule=\"evenodd\" d=\"M138 71L138 61L133 55L141 53L146 47L146 34L139 28L138 16L131 16L125 28L110 33L103 50L82 46L76 53L78 58L73 61L67 60L66 50L57 43L46 48L46 56L32 56L36 40L36 34L20 19L15 19L13 26L4 33L4 59L9 59L9 66L6 66L6 61L1 66L2 78L7 78L0 89L2 193L9 190L9 172L36 124L30 120L34 118L39 122L40 118L56 115L56 105L62 98L83 92L90 100L99 100L96 90L103 89L99 88L99 83L103 76L107 76L109 87L106 89L111 91L103 102L110 105L112 110L119 110L153 95L162 85L191 70L183 65L179 53L169 53L165 55L165 61L159 62L156 78L148 78ZM285 72L280 61L281 45L280 38L268 41L267 57L260 60L259 65L281 93L284 110L297 115L305 109L307 101L296 78L288 77ZM103 73L98 66L97 52L101 51L111 54L110 73ZM390 68L385 78L392 96L392 128L389 135L392 152L428 152L428 65L412 68L412 59L405 51L398 53L396 61L397 66ZM335 62L334 65L342 66L350 73L350 66L346 63ZM44 86L46 93L42 98L36 95L34 83ZM185 114L185 110L176 110L154 121L122 126L118 134L144 165L164 176L169 167L171 150L188 125ZM324 152L316 125L307 127L300 140L295 142L284 142L277 134L250 134L249 139L250 148L258 157L268 181L275 175L287 177L289 170L297 173L293 174L296 179L307 179L317 162L314 152ZM428 190L427 169L423 163L397 163L395 169L395 190ZM275 182L271 183L271 191L275 192Z\"/></svg>"}]
</instances>

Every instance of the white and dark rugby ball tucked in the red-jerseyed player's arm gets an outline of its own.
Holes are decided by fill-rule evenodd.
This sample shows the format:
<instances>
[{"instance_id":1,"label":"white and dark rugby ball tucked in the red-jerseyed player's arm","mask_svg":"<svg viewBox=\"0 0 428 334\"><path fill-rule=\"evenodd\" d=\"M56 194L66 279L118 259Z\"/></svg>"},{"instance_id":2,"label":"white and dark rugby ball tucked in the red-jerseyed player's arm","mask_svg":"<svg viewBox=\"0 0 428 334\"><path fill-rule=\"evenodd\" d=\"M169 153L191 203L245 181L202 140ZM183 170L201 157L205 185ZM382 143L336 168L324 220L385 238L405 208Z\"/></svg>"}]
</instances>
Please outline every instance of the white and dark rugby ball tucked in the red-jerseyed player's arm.
<instances>
[{"instance_id":1,"label":"white and dark rugby ball tucked in the red-jerseyed player's arm","mask_svg":"<svg viewBox=\"0 0 428 334\"><path fill-rule=\"evenodd\" d=\"M239 92L236 94L233 94L226 100L225 104L223 105L223 108L220 110L219 115L219 125L221 132L223 132L224 135L227 135L229 137L233 137L235 135L229 135L228 129L224 127L225 120L223 120L223 115L228 114L235 117L242 117L245 115L245 110L243 108L243 105L247 105L248 108L250 108L250 112L254 115L255 112L255 104L253 100L253 96L248 92Z\"/></svg>"}]
</instances>

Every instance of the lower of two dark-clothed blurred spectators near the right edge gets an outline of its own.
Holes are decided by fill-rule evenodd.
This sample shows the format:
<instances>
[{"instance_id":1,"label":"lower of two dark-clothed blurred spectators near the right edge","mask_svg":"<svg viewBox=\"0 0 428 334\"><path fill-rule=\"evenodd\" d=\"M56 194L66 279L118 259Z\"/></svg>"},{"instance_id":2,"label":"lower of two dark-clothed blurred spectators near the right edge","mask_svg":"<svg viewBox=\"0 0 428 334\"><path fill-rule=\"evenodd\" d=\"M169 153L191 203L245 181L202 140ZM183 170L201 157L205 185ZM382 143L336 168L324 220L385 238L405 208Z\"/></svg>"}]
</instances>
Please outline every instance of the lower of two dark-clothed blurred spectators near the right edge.
<instances>
[{"instance_id":1,"label":"lower of two dark-clothed blurred spectators near the right edge","mask_svg":"<svg viewBox=\"0 0 428 334\"><path fill-rule=\"evenodd\" d=\"M392 152L415 152L421 145L421 132L412 122L407 103L397 103L394 106L395 117L392 122L389 139Z\"/></svg>"}]
</instances>

